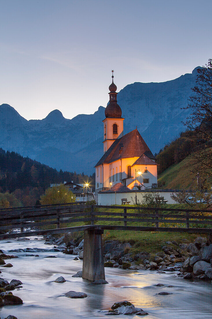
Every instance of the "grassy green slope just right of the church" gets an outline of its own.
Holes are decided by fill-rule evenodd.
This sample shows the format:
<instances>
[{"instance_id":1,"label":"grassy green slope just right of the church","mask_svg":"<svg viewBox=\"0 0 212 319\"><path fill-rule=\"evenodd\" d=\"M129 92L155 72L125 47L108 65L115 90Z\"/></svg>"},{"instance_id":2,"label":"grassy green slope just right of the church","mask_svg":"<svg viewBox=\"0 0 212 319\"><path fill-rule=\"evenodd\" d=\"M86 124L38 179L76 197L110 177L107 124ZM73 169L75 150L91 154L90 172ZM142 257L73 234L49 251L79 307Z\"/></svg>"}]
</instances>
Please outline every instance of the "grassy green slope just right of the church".
<instances>
[{"instance_id":1,"label":"grassy green slope just right of the church","mask_svg":"<svg viewBox=\"0 0 212 319\"><path fill-rule=\"evenodd\" d=\"M178 164L168 167L158 177L158 186L160 189L189 189L195 178L189 171L190 159L185 158Z\"/></svg>"}]
</instances>

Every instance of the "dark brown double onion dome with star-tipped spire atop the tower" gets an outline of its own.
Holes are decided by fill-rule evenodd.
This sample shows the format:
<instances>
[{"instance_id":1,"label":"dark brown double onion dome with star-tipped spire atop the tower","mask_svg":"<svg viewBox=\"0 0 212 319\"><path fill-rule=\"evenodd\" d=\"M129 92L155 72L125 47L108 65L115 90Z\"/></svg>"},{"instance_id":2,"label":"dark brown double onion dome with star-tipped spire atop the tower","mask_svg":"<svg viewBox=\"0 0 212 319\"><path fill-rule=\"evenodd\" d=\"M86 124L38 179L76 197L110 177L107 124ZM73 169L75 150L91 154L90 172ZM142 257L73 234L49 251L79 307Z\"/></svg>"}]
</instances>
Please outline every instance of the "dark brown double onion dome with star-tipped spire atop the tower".
<instances>
[{"instance_id":1,"label":"dark brown double onion dome with star-tipped spire atop the tower","mask_svg":"<svg viewBox=\"0 0 212 319\"><path fill-rule=\"evenodd\" d=\"M110 103L107 105L104 114L105 117L110 117L110 118L120 118L122 116L122 110L120 106L117 104L117 86L113 82L113 70L112 70L112 83L109 86L110 93Z\"/></svg>"}]
</instances>

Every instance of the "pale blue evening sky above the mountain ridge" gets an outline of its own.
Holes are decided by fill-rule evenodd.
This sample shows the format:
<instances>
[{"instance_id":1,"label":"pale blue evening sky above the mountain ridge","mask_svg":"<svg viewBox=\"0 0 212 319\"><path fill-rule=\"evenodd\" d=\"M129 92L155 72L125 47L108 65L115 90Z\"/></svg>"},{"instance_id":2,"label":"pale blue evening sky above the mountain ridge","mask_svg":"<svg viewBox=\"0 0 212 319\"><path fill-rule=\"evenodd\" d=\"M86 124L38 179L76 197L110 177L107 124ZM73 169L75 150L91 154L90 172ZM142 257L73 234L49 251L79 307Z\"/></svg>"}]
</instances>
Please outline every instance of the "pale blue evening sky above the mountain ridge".
<instances>
[{"instance_id":1,"label":"pale blue evening sky above the mountain ridge","mask_svg":"<svg viewBox=\"0 0 212 319\"><path fill-rule=\"evenodd\" d=\"M0 105L27 120L93 114L134 82L212 58L212 1L0 0Z\"/></svg>"}]
</instances>

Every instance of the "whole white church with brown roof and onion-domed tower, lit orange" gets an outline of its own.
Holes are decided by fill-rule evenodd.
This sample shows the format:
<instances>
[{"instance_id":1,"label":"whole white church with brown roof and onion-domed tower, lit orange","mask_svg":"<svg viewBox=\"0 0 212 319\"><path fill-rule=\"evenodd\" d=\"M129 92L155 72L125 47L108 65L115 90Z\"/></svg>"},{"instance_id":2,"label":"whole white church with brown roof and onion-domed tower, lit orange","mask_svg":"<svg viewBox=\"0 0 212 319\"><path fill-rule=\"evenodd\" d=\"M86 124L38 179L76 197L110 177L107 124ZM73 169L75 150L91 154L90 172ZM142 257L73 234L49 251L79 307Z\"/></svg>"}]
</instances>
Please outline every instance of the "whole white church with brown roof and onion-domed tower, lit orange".
<instances>
[{"instance_id":1,"label":"whole white church with brown roof and onion-domed tower, lit orange","mask_svg":"<svg viewBox=\"0 0 212 319\"><path fill-rule=\"evenodd\" d=\"M113 72L113 71L112 71ZM140 133L135 130L123 135L124 118L117 104L117 86L109 86L110 102L103 122L103 156L95 165L95 190L109 190L117 185L129 190L157 187L155 157ZM121 184L122 185L121 185Z\"/></svg>"}]
</instances>

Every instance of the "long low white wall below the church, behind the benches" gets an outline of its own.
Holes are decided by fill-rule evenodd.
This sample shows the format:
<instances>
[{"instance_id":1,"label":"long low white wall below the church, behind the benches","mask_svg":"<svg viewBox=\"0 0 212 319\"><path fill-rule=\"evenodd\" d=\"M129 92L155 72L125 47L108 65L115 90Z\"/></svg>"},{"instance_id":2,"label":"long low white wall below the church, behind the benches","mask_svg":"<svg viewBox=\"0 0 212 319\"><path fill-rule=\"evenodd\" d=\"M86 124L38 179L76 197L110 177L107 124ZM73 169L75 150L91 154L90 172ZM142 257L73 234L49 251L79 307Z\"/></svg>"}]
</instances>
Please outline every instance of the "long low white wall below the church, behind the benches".
<instances>
[{"instance_id":1,"label":"long low white wall below the church, behind the benches","mask_svg":"<svg viewBox=\"0 0 212 319\"><path fill-rule=\"evenodd\" d=\"M149 192L137 192L137 200L141 201L142 197ZM164 197L164 200L167 200L167 204L177 204L172 198L172 194L176 194L176 192L164 192L164 191L157 191L160 197ZM131 202L130 205L133 204L132 199L135 202L135 192L129 193L99 193L98 194L98 205L121 205L122 198L127 198L127 201Z\"/></svg>"}]
</instances>

